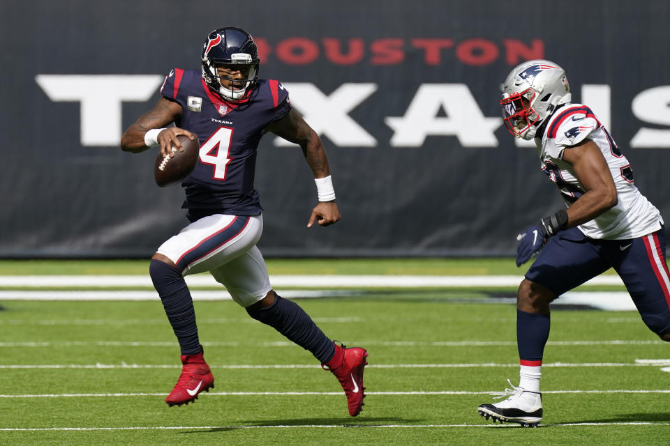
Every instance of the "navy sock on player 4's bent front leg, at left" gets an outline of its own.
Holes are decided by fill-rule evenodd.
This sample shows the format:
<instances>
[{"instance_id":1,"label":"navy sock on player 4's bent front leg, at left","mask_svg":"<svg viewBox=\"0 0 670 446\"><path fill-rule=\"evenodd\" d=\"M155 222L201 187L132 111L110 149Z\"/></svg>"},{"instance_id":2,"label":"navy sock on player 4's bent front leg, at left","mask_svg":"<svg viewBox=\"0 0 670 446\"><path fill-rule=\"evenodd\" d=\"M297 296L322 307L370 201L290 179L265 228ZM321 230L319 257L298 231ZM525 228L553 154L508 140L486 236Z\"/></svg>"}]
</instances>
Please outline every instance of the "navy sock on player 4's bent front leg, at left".
<instances>
[{"instance_id":1,"label":"navy sock on player 4's bent front leg, at left","mask_svg":"<svg viewBox=\"0 0 670 446\"><path fill-rule=\"evenodd\" d=\"M197 355L200 353L198 325L195 325L193 299L184 277L181 277L179 270L155 259L151 260L149 274L154 288L161 296L172 330L177 335L181 354Z\"/></svg>"}]
</instances>

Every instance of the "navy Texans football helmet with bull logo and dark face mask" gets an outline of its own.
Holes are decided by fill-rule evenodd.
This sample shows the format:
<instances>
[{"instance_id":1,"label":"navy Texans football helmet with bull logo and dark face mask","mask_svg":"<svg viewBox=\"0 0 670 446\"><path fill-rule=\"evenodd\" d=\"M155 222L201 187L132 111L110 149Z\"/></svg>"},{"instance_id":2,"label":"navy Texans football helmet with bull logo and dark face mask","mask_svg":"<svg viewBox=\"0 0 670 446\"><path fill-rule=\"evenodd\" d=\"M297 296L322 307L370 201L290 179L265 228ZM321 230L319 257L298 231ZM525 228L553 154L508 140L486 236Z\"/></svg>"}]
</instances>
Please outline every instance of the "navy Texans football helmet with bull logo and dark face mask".
<instances>
[{"instance_id":1,"label":"navy Texans football helmet with bull logo and dark face mask","mask_svg":"<svg viewBox=\"0 0 670 446\"><path fill-rule=\"evenodd\" d=\"M244 29L225 26L211 31L202 45L201 57L204 82L226 100L235 102L244 99L258 80L258 47ZM220 75L218 67L227 68L228 72L238 71L241 78Z\"/></svg>"}]
</instances>

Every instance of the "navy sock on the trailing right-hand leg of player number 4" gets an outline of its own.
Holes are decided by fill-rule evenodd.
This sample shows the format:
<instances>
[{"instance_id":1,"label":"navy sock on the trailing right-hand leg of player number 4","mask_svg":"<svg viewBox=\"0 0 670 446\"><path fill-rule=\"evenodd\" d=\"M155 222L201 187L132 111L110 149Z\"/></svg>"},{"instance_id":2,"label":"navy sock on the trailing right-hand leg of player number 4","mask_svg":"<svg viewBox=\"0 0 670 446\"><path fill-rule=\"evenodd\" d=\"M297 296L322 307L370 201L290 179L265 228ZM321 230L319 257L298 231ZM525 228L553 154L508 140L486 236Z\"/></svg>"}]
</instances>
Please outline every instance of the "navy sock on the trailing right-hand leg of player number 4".
<instances>
[{"instance_id":1,"label":"navy sock on the trailing right-hand leg of player number 4","mask_svg":"<svg viewBox=\"0 0 670 446\"><path fill-rule=\"evenodd\" d=\"M291 341L310 351L322 364L332 359L335 352L333 341L323 334L312 318L295 302L281 298L275 293L274 302L269 307L247 308L246 312L256 321L270 325Z\"/></svg>"}]
</instances>

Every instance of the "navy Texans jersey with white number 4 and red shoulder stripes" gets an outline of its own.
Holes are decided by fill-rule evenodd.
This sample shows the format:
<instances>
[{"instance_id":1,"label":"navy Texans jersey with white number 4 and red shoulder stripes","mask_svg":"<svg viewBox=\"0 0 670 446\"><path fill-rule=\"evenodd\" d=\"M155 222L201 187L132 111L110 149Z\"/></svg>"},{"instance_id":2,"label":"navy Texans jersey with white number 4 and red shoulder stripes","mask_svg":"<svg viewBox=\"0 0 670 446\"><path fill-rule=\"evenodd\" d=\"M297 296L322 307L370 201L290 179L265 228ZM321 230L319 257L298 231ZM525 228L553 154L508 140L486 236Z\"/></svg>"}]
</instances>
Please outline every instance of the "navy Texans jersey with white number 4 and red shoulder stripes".
<instances>
[{"instance_id":1,"label":"navy Texans jersey with white number 4 and red shoulder stripes","mask_svg":"<svg viewBox=\"0 0 670 446\"><path fill-rule=\"evenodd\" d=\"M226 102L207 87L200 70L174 68L161 94L181 105L178 127L198 134L200 157L181 185L182 208L198 215L258 215L253 187L256 149L263 130L290 112L288 91L276 80L259 79L243 100Z\"/></svg>"}]
</instances>

